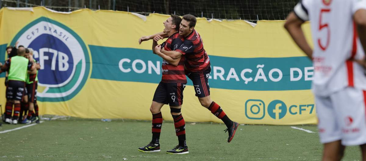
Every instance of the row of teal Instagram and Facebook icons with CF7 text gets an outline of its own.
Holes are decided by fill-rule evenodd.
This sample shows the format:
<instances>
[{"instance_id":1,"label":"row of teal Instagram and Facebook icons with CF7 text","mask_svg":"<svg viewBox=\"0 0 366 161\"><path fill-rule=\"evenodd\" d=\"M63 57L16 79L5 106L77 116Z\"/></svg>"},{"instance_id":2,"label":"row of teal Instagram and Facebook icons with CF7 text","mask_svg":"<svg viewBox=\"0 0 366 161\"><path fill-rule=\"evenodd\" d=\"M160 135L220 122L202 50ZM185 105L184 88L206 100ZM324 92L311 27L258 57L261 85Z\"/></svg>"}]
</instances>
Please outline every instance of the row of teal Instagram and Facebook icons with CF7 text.
<instances>
[{"instance_id":1,"label":"row of teal Instagram and Facebook icons with CF7 text","mask_svg":"<svg viewBox=\"0 0 366 161\"><path fill-rule=\"evenodd\" d=\"M314 104L300 104L286 106L281 100L273 100L268 104L267 110L264 101L250 99L245 102L245 116L248 119L261 120L264 118L266 111L268 115L275 120L285 117L287 113L291 115L312 114Z\"/></svg>"}]
</instances>

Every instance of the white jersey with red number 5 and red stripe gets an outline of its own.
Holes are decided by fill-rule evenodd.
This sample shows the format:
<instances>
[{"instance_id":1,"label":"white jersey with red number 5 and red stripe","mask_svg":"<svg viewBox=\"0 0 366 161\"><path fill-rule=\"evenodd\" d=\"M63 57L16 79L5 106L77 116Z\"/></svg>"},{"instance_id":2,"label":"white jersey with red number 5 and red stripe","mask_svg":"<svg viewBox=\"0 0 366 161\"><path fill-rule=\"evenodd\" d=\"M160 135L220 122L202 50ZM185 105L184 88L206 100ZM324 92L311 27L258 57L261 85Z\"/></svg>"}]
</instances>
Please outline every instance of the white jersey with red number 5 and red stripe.
<instances>
[{"instance_id":1,"label":"white jersey with red number 5 and red stripe","mask_svg":"<svg viewBox=\"0 0 366 161\"><path fill-rule=\"evenodd\" d=\"M366 9L366 0L302 0L295 6L298 18L310 20L315 95L347 86L366 90L365 69L349 61L365 56L353 21L359 9Z\"/></svg>"}]
</instances>

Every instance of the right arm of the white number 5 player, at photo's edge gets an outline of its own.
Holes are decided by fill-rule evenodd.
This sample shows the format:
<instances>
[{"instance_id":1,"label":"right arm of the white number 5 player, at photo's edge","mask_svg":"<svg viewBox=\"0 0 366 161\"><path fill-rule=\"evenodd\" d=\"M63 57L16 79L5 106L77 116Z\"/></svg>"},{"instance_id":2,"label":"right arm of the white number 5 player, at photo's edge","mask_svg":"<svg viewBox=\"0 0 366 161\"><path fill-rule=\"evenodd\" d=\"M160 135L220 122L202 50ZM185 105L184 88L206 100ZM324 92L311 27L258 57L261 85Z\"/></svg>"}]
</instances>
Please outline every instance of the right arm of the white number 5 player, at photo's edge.
<instances>
[{"instance_id":1,"label":"right arm of the white number 5 player, at photo's edge","mask_svg":"<svg viewBox=\"0 0 366 161\"><path fill-rule=\"evenodd\" d=\"M366 10L359 9L353 15L353 19L355 20L357 26L358 36L360 38L363 50L366 49ZM356 61L366 67L366 60Z\"/></svg>"}]
</instances>

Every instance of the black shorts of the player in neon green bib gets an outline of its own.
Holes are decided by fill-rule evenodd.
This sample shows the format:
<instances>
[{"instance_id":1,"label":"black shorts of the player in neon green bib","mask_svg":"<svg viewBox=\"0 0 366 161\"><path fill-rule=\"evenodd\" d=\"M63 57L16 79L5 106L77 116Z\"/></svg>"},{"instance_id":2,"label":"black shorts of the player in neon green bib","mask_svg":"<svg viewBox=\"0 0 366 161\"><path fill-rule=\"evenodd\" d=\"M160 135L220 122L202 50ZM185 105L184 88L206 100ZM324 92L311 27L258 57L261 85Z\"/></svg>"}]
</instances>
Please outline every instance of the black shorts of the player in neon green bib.
<instances>
[{"instance_id":1,"label":"black shorts of the player in neon green bib","mask_svg":"<svg viewBox=\"0 0 366 161\"><path fill-rule=\"evenodd\" d=\"M25 92L25 82L9 80L6 87L6 99L21 101Z\"/></svg>"}]
</instances>

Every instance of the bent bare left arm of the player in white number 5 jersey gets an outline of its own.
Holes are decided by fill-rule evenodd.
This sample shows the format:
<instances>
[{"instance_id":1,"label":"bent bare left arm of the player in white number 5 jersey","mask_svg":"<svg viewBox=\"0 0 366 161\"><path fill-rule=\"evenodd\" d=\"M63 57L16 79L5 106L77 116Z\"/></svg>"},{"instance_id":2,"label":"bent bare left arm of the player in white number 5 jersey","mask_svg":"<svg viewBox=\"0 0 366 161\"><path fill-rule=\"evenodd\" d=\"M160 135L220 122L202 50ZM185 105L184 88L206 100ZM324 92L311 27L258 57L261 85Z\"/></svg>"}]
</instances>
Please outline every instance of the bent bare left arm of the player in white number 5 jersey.
<instances>
[{"instance_id":1,"label":"bent bare left arm of the player in white number 5 jersey","mask_svg":"<svg viewBox=\"0 0 366 161\"><path fill-rule=\"evenodd\" d=\"M294 12L291 12L287 18L284 27L294 39L295 43L300 47L305 54L312 59L313 49L311 49L309 43L307 43L304 32L301 29L301 25L304 23L303 20L299 19Z\"/></svg>"}]
</instances>

